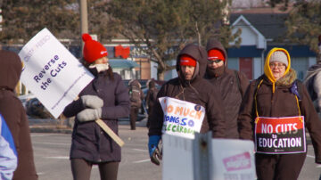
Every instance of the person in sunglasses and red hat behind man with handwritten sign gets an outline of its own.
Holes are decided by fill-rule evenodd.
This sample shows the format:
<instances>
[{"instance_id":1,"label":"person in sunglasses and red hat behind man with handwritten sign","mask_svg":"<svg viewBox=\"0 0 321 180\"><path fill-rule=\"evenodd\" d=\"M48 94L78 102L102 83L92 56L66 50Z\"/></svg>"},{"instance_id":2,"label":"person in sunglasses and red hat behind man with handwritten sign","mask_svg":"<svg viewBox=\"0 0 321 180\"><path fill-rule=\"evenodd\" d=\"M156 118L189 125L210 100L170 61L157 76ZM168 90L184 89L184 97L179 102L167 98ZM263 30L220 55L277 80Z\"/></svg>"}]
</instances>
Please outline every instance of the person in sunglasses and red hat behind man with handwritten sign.
<instances>
[{"instance_id":1,"label":"person in sunglasses and red hat behind man with handwritten sign","mask_svg":"<svg viewBox=\"0 0 321 180\"><path fill-rule=\"evenodd\" d=\"M243 72L227 68L226 49L218 40L210 39L206 50L208 64L205 78L220 90L226 110L226 138L238 139L238 112L250 81Z\"/></svg>"}]
</instances>

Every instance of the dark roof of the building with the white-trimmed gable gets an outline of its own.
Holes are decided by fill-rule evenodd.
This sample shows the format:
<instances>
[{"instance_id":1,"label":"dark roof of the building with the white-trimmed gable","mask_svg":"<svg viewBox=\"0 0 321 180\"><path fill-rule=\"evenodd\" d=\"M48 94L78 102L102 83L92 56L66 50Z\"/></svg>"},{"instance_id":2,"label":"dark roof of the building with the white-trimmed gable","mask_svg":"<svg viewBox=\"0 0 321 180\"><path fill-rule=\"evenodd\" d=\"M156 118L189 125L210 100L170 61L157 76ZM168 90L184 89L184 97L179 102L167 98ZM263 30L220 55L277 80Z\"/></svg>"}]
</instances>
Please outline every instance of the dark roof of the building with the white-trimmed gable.
<instances>
[{"instance_id":1,"label":"dark roof of the building with the white-trimmed gable","mask_svg":"<svg viewBox=\"0 0 321 180\"><path fill-rule=\"evenodd\" d=\"M232 13L230 22L233 24L241 15L267 39L283 37L286 27L284 25L287 14L284 13Z\"/></svg>"}]
</instances>

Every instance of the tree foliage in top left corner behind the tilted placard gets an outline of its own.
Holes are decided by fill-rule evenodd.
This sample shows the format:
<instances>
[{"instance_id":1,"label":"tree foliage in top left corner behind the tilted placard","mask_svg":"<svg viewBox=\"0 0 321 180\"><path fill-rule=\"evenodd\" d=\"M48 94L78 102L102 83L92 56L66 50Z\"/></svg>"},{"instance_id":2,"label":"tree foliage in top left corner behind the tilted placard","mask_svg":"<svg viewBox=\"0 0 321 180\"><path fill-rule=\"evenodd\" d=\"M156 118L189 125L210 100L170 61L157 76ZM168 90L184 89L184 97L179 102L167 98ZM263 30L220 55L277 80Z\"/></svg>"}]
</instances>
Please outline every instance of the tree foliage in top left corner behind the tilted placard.
<instances>
[{"instance_id":1,"label":"tree foliage in top left corner behind the tilted placard","mask_svg":"<svg viewBox=\"0 0 321 180\"><path fill-rule=\"evenodd\" d=\"M49 29L60 38L79 34L77 0L3 0L2 43L25 43L41 29Z\"/></svg>"}]
</instances>

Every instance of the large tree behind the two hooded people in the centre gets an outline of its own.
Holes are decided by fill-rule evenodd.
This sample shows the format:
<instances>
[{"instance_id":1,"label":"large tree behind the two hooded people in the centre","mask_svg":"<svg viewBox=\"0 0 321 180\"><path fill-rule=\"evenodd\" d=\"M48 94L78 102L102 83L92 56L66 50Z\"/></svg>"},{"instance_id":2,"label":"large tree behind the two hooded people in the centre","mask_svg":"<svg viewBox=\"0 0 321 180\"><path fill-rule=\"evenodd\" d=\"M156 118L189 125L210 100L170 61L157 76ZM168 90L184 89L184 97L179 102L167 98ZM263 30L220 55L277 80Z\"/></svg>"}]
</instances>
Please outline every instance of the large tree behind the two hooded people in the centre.
<instances>
[{"instance_id":1,"label":"large tree behind the two hooded people in the centre","mask_svg":"<svg viewBox=\"0 0 321 180\"><path fill-rule=\"evenodd\" d=\"M222 23L226 0L111 0L113 32L136 45L158 64L158 78L172 70L167 61L175 59L187 43L204 45L209 37L224 45L238 36ZM238 32L240 33L240 32Z\"/></svg>"}]
</instances>

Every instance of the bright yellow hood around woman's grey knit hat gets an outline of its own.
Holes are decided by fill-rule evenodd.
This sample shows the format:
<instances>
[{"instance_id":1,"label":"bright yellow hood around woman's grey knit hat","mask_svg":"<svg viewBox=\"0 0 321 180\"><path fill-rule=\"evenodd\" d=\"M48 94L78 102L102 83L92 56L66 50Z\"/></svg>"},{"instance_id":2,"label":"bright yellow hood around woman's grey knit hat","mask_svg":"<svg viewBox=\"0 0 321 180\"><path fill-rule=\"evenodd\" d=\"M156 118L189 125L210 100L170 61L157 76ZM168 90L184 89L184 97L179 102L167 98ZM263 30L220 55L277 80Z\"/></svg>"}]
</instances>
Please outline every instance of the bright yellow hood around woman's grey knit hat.
<instances>
[{"instance_id":1,"label":"bright yellow hood around woman's grey knit hat","mask_svg":"<svg viewBox=\"0 0 321 180\"><path fill-rule=\"evenodd\" d=\"M290 59L290 54L284 49L284 48L279 48L279 47L275 47L273 49L271 49L268 52L268 56L266 58L266 61L264 63L264 74L266 75L266 77L268 78L269 81L271 81L271 83L273 84L273 92L275 92L275 85L276 85L276 78L274 78L272 70L269 67L269 61L271 58L272 53L276 52L276 51L283 51L286 54L287 57L287 61L288 61L288 66L286 67L285 71L284 71L284 76L289 73L289 70L291 69L291 59Z\"/></svg>"}]
</instances>

